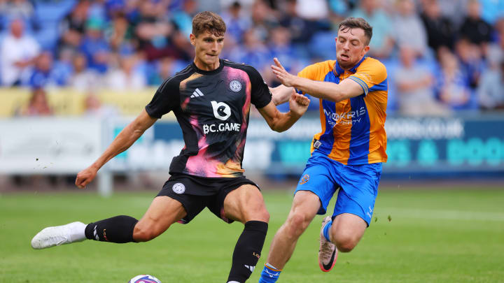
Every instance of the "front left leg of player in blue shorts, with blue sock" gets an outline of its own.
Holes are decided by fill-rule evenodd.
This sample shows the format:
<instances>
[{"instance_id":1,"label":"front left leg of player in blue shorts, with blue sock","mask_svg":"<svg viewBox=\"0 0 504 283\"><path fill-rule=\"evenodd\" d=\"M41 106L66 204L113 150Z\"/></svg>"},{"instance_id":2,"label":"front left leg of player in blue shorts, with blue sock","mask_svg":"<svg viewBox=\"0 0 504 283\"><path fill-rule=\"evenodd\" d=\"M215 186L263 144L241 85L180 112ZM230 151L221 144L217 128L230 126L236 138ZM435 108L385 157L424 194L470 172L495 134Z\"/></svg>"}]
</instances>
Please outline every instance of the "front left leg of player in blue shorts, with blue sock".
<instances>
[{"instance_id":1,"label":"front left leg of player in blue shorts, with blue sock","mask_svg":"<svg viewBox=\"0 0 504 283\"><path fill-rule=\"evenodd\" d=\"M273 238L265 269L259 282L275 282L279 272L292 256L297 239L314 219L321 203L311 191L297 191L286 222Z\"/></svg>"}]
</instances>

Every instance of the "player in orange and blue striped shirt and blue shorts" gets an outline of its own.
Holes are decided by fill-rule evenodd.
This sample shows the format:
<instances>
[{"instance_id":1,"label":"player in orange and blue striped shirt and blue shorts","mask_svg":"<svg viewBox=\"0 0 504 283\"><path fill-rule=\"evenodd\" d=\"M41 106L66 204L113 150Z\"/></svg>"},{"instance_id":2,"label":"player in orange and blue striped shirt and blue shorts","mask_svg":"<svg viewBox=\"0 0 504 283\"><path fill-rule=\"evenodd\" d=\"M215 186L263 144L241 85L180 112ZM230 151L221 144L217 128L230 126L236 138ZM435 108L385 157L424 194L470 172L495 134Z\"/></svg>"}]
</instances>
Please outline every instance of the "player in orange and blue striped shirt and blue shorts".
<instances>
[{"instance_id":1,"label":"player in orange and blue striped shirt and blue shorts","mask_svg":"<svg viewBox=\"0 0 504 283\"><path fill-rule=\"evenodd\" d=\"M387 73L380 61L365 56L371 37L370 24L349 17L339 24L336 60L307 66L296 76L274 59L272 70L283 84L272 89L275 103L286 101L292 87L319 98L322 131L311 143L311 157L287 220L274 236L261 283L276 282L297 239L315 215L325 214L336 191L332 217L325 217L321 227L321 270L332 269L338 251L356 247L370 224L387 159Z\"/></svg>"}]
</instances>

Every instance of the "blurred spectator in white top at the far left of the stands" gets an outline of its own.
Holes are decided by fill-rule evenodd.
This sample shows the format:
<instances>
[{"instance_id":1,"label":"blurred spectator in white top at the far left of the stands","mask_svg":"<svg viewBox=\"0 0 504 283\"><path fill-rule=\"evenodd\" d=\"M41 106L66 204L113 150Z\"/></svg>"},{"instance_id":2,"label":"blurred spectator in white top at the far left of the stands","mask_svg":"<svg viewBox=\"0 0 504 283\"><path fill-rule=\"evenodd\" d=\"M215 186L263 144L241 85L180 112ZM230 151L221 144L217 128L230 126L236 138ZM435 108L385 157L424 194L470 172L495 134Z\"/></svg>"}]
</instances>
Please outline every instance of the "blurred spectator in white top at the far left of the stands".
<instances>
[{"instance_id":1,"label":"blurred spectator in white top at the far left of the stands","mask_svg":"<svg viewBox=\"0 0 504 283\"><path fill-rule=\"evenodd\" d=\"M40 52L40 45L31 36L24 34L22 20L10 23L10 34L0 43L1 85L18 86L29 80L31 66Z\"/></svg>"}]
</instances>

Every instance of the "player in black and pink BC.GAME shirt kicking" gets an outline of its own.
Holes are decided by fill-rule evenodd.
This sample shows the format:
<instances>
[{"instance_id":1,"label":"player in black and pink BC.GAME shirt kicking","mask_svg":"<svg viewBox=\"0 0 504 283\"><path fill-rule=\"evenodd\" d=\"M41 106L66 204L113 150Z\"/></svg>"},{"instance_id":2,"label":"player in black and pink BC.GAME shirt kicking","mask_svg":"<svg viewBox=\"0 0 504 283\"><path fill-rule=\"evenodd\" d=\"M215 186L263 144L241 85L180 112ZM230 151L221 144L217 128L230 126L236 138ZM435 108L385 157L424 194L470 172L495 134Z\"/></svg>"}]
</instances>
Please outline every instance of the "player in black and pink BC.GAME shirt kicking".
<instances>
[{"instance_id":1,"label":"player in black and pink BC.GAME shirt kicking","mask_svg":"<svg viewBox=\"0 0 504 283\"><path fill-rule=\"evenodd\" d=\"M290 111L279 113L258 71L245 64L219 59L225 23L215 13L193 18L190 42L195 60L168 78L145 110L123 129L97 161L78 173L84 188L99 168L127 150L154 122L173 111L186 146L170 165L169 180L140 220L120 215L83 224L73 222L44 228L34 249L90 239L104 242L146 242L175 222L188 223L205 207L225 222L238 221L244 231L232 255L227 282L245 282L258 263L269 213L257 185L244 177L244 154L251 103L274 131L290 128L307 110L309 99L293 92Z\"/></svg>"}]
</instances>

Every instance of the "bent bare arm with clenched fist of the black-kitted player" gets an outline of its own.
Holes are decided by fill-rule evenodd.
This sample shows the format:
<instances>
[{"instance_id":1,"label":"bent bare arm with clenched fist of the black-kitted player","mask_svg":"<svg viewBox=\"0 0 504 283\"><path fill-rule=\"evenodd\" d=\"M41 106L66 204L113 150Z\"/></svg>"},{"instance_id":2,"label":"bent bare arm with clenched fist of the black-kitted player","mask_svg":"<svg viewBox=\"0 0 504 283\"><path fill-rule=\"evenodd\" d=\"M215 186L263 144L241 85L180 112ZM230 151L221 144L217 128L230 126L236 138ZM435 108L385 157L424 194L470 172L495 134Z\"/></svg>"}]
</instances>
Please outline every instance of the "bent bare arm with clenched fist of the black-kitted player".
<instances>
[{"instance_id":1,"label":"bent bare arm with clenched fist of the black-kitted player","mask_svg":"<svg viewBox=\"0 0 504 283\"><path fill-rule=\"evenodd\" d=\"M308 109L309 99L301 94L295 93L294 89L290 90L289 99L290 111L281 113L271 101L263 108L258 109L262 117L265 118L269 128L273 131L286 131L289 129Z\"/></svg>"}]
</instances>

